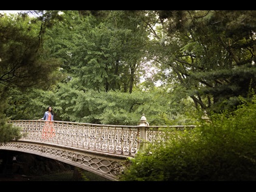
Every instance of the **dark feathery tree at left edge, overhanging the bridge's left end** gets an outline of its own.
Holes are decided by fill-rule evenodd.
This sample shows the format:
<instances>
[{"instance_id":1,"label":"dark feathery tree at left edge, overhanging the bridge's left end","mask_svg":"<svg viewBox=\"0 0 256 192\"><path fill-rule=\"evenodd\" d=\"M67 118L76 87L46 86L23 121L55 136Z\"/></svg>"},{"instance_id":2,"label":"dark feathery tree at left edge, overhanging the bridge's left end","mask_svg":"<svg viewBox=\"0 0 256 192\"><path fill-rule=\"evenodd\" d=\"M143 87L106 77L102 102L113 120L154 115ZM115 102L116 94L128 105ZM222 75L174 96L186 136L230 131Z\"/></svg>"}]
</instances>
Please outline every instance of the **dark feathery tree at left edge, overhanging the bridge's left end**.
<instances>
[{"instance_id":1,"label":"dark feathery tree at left edge, overhanging the bridge's left end","mask_svg":"<svg viewBox=\"0 0 256 192\"><path fill-rule=\"evenodd\" d=\"M10 90L18 87L25 91L32 86L46 89L58 80L60 63L43 49L40 24L27 14L0 16L0 127L2 135L9 135L7 139L1 137L0 142L19 137L4 114ZM7 130L10 134L5 134Z\"/></svg>"}]
</instances>

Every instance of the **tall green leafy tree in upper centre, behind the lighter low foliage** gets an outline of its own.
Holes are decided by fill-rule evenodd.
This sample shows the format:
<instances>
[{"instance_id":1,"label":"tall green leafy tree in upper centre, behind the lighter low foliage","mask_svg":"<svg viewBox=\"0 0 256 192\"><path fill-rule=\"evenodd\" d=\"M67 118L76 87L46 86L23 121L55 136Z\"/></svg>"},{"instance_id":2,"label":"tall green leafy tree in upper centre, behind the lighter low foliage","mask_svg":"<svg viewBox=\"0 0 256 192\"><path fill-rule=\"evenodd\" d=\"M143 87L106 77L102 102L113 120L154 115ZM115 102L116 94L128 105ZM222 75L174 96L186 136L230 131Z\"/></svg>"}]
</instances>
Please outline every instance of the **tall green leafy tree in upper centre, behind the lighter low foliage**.
<instances>
[{"instance_id":1,"label":"tall green leafy tree in upper centre, behind the lighter low foliage","mask_svg":"<svg viewBox=\"0 0 256 192\"><path fill-rule=\"evenodd\" d=\"M87 89L132 92L146 53L142 20L127 11L105 11L100 18L87 13L63 11L63 21L49 30L52 54Z\"/></svg>"}]
</instances>

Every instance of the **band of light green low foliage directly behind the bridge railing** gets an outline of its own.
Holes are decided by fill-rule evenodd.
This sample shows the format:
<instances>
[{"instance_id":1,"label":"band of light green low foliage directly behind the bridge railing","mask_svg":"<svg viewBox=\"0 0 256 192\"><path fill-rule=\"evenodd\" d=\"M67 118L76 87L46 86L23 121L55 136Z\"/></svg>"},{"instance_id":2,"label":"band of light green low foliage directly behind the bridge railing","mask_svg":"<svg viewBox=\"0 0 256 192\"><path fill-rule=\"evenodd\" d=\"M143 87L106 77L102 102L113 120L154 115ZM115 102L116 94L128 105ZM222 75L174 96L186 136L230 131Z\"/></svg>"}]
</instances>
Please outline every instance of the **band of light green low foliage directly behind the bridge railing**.
<instances>
[{"instance_id":1,"label":"band of light green low foliage directly behind the bridge railing","mask_svg":"<svg viewBox=\"0 0 256 192\"><path fill-rule=\"evenodd\" d=\"M29 95L21 95L13 89L9 97L9 103L13 105L5 111L12 119L38 119L47 103L54 106L55 120L67 122L137 125L142 114L147 116L150 125L187 125L195 121L187 115L193 111L192 101L171 94L162 97L165 92L161 89L151 92L135 90L132 94L120 91L99 93L83 91L75 83L70 84L58 84L57 91L28 89Z\"/></svg>"}]
</instances>

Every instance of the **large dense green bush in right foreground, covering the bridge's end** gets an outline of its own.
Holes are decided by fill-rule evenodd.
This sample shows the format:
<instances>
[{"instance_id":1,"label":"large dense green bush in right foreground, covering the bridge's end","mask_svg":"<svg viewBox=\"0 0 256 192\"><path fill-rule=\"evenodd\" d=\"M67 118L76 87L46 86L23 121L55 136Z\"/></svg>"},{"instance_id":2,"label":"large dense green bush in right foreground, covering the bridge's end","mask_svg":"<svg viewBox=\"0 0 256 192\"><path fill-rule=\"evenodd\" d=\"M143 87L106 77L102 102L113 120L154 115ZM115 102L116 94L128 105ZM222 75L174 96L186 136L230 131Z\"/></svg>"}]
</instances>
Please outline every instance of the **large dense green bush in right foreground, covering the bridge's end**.
<instances>
[{"instance_id":1,"label":"large dense green bush in right foreground, covering the bridge's end","mask_svg":"<svg viewBox=\"0 0 256 192\"><path fill-rule=\"evenodd\" d=\"M214 114L192 131L153 143L128 161L121 180L256 180L256 97L234 112Z\"/></svg>"}]
</instances>

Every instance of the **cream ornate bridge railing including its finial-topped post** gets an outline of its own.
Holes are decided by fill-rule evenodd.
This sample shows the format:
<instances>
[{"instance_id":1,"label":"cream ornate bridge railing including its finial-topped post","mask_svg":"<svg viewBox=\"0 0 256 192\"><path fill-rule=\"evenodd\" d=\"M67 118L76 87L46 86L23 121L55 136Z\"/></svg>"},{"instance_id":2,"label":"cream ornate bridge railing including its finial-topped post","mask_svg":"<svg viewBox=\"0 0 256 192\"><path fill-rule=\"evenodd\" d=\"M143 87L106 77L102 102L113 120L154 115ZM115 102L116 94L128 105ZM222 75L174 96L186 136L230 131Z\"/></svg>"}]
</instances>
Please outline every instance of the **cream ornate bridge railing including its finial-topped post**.
<instances>
[{"instance_id":1,"label":"cream ornate bridge railing including its finial-topped post","mask_svg":"<svg viewBox=\"0 0 256 192\"><path fill-rule=\"evenodd\" d=\"M42 120L10 120L9 123L21 128L22 138L19 140L54 143L131 157L135 156L142 143L165 140L173 130L195 127L194 125L149 126L145 116L142 116L138 126ZM49 128L50 123L52 129Z\"/></svg>"}]
</instances>

